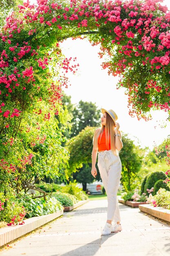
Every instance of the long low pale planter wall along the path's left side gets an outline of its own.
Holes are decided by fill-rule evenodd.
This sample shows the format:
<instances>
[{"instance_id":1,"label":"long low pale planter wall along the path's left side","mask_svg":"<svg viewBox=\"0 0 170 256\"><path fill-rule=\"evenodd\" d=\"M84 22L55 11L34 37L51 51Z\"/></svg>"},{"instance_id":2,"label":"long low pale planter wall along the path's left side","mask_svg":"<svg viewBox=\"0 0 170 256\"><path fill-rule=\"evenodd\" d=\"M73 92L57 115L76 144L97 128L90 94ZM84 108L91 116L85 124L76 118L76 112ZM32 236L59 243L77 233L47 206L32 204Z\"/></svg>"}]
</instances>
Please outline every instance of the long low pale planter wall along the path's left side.
<instances>
[{"instance_id":1,"label":"long low pale planter wall along the path's left side","mask_svg":"<svg viewBox=\"0 0 170 256\"><path fill-rule=\"evenodd\" d=\"M63 214L63 209L55 213L48 215L33 217L24 220L23 225L13 225L8 227L3 227L0 229L0 247L10 243L11 241L41 227L47 222L54 220Z\"/></svg>"}]
</instances>

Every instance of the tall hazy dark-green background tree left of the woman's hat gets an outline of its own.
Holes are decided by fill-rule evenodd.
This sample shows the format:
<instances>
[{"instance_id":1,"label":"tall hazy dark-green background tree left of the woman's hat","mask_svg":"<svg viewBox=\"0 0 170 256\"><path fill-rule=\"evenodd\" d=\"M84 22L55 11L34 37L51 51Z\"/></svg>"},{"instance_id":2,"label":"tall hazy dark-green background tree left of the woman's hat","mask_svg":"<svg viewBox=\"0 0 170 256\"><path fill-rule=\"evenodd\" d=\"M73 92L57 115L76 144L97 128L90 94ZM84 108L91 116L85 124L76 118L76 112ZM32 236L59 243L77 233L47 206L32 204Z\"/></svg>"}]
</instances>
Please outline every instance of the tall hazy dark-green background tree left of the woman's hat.
<instances>
[{"instance_id":1,"label":"tall hazy dark-green background tree left of the woman's hat","mask_svg":"<svg viewBox=\"0 0 170 256\"><path fill-rule=\"evenodd\" d=\"M78 135L86 126L99 126L100 117L101 111L97 109L95 103L79 101L73 110L71 137Z\"/></svg>"}]
</instances>

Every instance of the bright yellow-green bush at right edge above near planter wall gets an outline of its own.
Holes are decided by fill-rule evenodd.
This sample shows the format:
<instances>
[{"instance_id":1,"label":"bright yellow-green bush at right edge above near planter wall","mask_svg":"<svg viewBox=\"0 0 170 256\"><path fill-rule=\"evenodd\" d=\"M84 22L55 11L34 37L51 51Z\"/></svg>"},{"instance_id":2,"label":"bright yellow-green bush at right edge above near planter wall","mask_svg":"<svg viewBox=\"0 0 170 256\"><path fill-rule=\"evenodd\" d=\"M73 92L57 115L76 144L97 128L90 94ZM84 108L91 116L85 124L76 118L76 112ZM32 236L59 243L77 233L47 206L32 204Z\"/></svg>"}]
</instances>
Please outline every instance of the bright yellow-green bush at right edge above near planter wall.
<instances>
[{"instance_id":1,"label":"bright yellow-green bush at right edge above near planter wall","mask_svg":"<svg viewBox=\"0 0 170 256\"><path fill-rule=\"evenodd\" d=\"M157 207L170 210L170 191L161 188L153 198L156 200Z\"/></svg>"}]
</instances>

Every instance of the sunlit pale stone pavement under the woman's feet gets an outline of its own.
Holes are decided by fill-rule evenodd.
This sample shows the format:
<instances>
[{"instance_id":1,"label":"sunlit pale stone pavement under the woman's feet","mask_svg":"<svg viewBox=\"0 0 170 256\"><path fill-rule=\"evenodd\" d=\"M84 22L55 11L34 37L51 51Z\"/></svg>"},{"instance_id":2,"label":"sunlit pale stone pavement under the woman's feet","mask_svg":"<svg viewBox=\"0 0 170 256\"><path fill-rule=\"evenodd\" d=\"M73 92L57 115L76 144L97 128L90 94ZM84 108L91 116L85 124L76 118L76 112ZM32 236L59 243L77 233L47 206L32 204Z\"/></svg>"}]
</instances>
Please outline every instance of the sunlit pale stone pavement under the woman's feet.
<instances>
[{"instance_id":1,"label":"sunlit pale stone pavement under the woman's feet","mask_svg":"<svg viewBox=\"0 0 170 256\"><path fill-rule=\"evenodd\" d=\"M119 203L123 230L101 236L107 200L91 200L0 251L0 256L169 256L170 225Z\"/></svg>"}]
</instances>

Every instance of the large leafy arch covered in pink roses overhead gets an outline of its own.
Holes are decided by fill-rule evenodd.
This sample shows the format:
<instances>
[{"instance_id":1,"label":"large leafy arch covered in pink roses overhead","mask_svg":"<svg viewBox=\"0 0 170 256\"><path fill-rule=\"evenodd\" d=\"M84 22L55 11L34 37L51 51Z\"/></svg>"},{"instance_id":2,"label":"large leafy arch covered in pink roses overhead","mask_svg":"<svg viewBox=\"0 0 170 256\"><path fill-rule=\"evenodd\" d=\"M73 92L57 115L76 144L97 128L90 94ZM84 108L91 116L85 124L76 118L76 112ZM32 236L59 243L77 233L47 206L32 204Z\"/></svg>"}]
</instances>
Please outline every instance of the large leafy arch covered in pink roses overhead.
<instances>
[{"instance_id":1,"label":"large leafy arch covered in pink roses overhead","mask_svg":"<svg viewBox=\"0 0 170 256\"><path fill-rule=\"evenodd\" d=\"M117 87L126 88L131 116L147 120L151 108L169 111L170 12L161 2L37 0L35 6L27 0L19 5L0 33L0 136L4 155L18 132L20 141L22 133L29 132L23 121L28 113L43 115L44 120L50 119L52 111L58 114L62 86L68 83L66 73L77 69L75 59L62 55L59 42L65 38L84 35L93 45L101 44L99 55L107 59L102 67L120 76ZM42 108L42 102L49 107ZM43 143L45 137L36 139ZM34 146L33 141L29 144ZM20 168L31 163L32 157L26 151L25 164ZM9 172L17 169L4 159L0 166Z\"/></svg>"}]
</instances>

